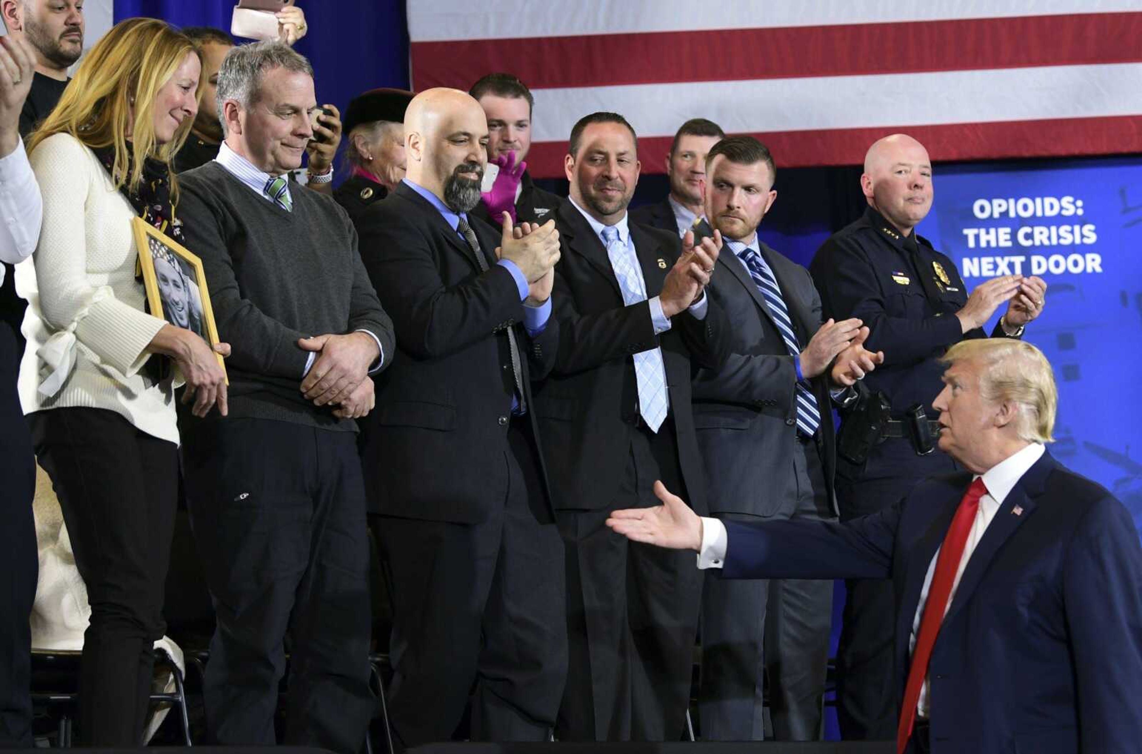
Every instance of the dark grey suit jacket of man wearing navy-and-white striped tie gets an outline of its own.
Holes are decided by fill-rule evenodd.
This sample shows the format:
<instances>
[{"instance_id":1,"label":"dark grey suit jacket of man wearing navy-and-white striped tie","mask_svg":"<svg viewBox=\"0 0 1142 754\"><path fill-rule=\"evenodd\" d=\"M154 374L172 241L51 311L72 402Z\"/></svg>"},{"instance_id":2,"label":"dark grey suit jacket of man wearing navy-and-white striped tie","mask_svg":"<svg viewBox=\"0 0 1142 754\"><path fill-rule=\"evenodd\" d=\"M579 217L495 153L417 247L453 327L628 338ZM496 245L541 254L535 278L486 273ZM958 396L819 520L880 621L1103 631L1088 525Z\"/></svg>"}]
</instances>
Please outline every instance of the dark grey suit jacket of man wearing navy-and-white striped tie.
<instances>
[{"instance_id":1,"label":"dark grey suit jacket of man wearing navy-and-white striped tie","mask_svg":"<svg viewBox=\"0 0 1142 754\"><path fill-rule=\"evenodd\" d=\"M821 326L821 298L801 265L764 243L762 256L778 279L797 340L804 348ZM731 350L719 370L693 381L698 446L709 472L713 512L790 516L797 504L797 372L765 300L730 246L723 248L707 287L732 323ZM811 381L821 413L821 449L829 500L836 448L827 373Z\"/></svg>"}]
</instances>

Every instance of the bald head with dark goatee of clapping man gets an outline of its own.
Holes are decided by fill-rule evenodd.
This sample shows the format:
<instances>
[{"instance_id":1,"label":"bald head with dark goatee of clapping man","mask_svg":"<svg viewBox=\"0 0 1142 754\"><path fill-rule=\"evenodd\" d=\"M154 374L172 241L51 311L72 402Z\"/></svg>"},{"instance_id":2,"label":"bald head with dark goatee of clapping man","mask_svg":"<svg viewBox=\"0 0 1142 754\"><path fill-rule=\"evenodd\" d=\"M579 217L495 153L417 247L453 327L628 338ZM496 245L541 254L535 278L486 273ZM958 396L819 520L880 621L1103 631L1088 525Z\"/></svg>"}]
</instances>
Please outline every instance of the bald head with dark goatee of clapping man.
<instances>
[{"instance_id":1,"label":"bald head with dark goatee of clapping man","mask_svg":"<svg viewBox=\"0 0 1142 754\"><path fill-rule=\"evenodd\" d=\"M459 89L428 89L404 111L408 179L453 212L467 212L480 202L486 144L484 111Z\"/></svg>"}]
</instances>

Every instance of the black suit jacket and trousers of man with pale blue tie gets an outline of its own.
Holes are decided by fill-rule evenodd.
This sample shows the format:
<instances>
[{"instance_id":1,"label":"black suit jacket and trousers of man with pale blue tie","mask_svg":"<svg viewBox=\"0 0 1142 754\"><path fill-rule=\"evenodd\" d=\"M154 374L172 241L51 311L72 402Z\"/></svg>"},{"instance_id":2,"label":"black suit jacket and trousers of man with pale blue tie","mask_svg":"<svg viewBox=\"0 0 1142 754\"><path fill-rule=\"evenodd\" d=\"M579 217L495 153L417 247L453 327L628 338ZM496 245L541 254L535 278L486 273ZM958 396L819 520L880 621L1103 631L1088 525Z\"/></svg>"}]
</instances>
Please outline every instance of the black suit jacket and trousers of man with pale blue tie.
<instances>
[{"instance_id":1,"label":"black suit jacket and trousers of man with pale blue tie","mask_svg":"<svg viewBox=\"0 0 1142 754\"><path fill-rule=\"evenodd\" d=\"M628 544L604 521L658 503L652 485L687 489L706 510L690 411L692 368L717 367L725 319L714 302L656 335L646 301L624 306L606 250L569 201L557 212L558 358L536 392L552 494L566 544L571 659L561 740L677 740L685 729L701 576L693 556ZM630 224L646 293L661 291L677 234ZM658 432L640 416L632 356L660 348L669 414Z\"/></svg>"}]
</instances>

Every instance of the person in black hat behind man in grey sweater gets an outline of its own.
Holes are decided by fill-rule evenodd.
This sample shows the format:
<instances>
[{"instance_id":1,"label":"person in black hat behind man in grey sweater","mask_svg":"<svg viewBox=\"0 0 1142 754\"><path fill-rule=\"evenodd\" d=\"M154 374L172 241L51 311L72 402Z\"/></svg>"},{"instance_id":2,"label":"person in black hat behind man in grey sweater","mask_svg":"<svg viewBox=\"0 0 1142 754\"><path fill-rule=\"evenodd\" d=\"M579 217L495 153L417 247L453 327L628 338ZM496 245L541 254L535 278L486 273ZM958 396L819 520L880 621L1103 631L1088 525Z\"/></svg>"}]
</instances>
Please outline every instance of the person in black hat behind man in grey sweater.
<instances>
[{"instance_id":1,"label":"person in black hat behind man in grey sweater","mask_svg":"<svg viewBox=\"0 0 1142 754\"><path fill-rule=\"evenodd\" d=\"M354 225L404 178L404 110L411 100L412 92L404 89L370 89L345 111L349 177L333 189L333 198Z\"/></svg>"}]
</instances>

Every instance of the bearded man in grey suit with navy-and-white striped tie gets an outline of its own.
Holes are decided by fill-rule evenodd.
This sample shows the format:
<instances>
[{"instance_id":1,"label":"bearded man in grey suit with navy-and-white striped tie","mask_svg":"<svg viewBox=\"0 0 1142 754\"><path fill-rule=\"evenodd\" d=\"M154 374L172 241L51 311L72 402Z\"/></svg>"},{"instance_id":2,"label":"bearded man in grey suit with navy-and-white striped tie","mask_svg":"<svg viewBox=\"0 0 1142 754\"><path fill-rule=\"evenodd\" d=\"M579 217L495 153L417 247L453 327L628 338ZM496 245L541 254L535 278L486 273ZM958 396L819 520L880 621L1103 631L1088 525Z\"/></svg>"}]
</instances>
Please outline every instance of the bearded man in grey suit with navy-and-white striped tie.
<instances>
[{"instance_id":1,"label":"bearded man in grey suit with navy-and-white striped tie","mask_svg":"<svg viewBox=\"0 0 1142 754\"><path fill-rule=\"evenodd\" d=\"M758 238L777 200L769 149L748 136L722 139L706 171L706 217L732 252L718 258L707 290L732 323L732 354L693 381L710 513L743 521L834 518L829 403L855 397L846 386L880 357L863 349L868 329L859 319L822 324L809 271ZM829 581L707 577L702 738L820 737L831 597Z\"/></svg>"}]
</instances>

